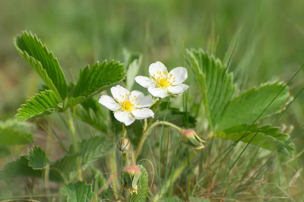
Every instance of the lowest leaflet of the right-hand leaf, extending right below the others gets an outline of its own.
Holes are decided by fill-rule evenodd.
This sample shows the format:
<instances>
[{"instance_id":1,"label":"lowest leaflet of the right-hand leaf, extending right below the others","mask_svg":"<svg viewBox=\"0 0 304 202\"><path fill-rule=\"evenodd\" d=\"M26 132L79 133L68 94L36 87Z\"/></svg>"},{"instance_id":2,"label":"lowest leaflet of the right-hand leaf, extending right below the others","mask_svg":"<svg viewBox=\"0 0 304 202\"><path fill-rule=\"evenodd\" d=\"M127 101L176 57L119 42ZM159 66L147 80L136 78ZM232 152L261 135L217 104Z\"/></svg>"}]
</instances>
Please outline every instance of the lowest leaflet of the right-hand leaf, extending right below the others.
<instances>
[{"instance_id":1,"label":"lowest leaflet of the right-hand leaf, extending right below the others","mask_svg":"<svg viewBox=\"0 0 304 202\"><path fill-rule=\"evenodd\" d=\"M217 132L215 136L234 141L238 141L243 137L240 141L247 143L250 142L250 144L268 149L270 151L280 151L282 155L287 157L293 155L293 142L286 144L290 139L290 135L281 132L279 127L271 127L270 125L258 127L257 124L252 125L250 129L249 127L249 124L233 126L229 129L223 130L222 132ZM245 134L246 131L247 133Z\"/></svg>"}]
</instances>

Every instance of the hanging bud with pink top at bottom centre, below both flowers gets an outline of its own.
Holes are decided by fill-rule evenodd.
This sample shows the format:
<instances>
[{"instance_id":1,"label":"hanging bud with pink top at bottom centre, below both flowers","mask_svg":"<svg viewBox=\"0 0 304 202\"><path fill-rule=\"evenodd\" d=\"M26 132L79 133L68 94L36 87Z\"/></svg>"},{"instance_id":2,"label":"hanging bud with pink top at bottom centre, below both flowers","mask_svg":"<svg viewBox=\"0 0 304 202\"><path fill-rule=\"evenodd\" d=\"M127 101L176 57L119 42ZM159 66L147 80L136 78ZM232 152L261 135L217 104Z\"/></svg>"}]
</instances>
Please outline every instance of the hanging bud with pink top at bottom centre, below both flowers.
<instances>
[{"instance_id":1,"label":"hanging bud with pink top at bottom centre, below both flowers","mask_svg":"<svg viewBox=\"0 0 304 202\"><path fill-rule=\"evenodd\" d=\"M123 186L125 190L130 189L132 193L137 194L137 182L139 180L141 171L137 166L126 167L123 171Z\"/></svg>"}]
</instances>

